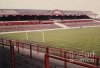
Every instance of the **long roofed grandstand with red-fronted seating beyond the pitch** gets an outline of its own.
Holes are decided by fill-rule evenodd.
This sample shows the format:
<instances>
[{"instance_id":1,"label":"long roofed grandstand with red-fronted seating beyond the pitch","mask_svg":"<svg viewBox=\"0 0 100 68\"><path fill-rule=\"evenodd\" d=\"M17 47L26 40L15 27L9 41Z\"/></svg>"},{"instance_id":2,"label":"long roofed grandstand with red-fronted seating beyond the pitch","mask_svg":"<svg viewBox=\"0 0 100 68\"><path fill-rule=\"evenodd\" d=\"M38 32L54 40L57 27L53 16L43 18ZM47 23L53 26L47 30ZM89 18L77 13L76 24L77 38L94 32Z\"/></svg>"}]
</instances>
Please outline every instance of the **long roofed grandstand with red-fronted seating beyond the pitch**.
<instances>
[{"instance_id":1,"label":"long roofed grandstand with red-fronted seating beyond the pitch","mask_svg":"<svg viewBox=\"0 0 100 68\"><path fill-rule=\"evenodd\" d=\"M96 15L76 10L0 9L0 32L100 25L94 23Z\"/></svg>"}]
</instances>

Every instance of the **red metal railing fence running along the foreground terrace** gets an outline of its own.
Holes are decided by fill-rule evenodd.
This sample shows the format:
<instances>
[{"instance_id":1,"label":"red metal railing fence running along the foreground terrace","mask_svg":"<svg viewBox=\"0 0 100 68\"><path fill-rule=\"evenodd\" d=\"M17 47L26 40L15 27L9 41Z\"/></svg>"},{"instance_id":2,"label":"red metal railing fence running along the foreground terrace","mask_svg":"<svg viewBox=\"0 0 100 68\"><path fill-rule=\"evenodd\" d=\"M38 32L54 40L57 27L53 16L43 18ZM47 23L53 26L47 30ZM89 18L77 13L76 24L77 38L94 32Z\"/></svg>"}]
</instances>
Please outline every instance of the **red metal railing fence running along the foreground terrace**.
<instances>
[{"instance_id":1,"label":"red metal railing fence running along the foreground terrace","mask_svg":"<svg viewBox=\"0 0 100 68\"><path fill-rule=\"evenodd\" d=\"M67 63L72 63L87 68L100 68L100 57L93 54L87 55L87 53L69 51L60 48L43 46L43 44L30 43L19 40L11 40L6 38L0 38L0 44L3 46L10 47L12 68L15 68L15 62L16 62L14 57L15 54L14 48L16 48L18 54L20 54L21 52L20 48L28 49L30 51L29 52L30 59L32 59L32 57L34 56L32 54L33 50L37 51L37 53L39 52L44 53L45 68L50 68L50 62L49 62L50 58L64 61L64 68L67 68ZM81 59L87 59L89 60L89 62L80 61Z\"/></svg>"}]
</instances>

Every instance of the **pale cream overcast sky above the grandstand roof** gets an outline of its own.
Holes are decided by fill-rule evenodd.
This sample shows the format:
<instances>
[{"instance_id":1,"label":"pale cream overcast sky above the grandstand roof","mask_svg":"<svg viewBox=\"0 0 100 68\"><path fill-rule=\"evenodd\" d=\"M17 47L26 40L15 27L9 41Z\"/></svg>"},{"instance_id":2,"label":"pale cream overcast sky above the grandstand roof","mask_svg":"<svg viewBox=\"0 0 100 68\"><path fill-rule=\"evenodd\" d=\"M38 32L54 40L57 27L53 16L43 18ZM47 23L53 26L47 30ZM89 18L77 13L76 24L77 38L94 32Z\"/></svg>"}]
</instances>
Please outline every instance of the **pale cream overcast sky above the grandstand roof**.
<instances>
[{"instance_id":1,"label":"pale cream overcast sky above the grandstand roof","mask_svg":"<svg viewBox=\"0 0 100 68\"><path fill-rule=\"evenodd\" d=\"M86 10L100 17L100 0L0 0L0 9Z\"/></svg>"}]
</instances>

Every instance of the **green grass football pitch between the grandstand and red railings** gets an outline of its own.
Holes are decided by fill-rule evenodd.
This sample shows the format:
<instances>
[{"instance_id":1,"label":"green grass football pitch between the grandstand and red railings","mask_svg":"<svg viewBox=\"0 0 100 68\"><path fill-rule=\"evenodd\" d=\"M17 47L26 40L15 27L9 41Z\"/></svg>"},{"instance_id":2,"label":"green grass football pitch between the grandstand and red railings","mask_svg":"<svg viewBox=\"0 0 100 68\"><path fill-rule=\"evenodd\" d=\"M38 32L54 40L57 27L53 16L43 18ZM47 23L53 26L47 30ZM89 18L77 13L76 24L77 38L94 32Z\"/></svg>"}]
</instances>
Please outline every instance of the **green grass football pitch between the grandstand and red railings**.
<instances>
[{"instance_id":1,"label":"green grass football pitch between the grandstand and red railings","mask_svg":"<svg viewBox=\"0 0 100 68\"><path fill-rule=\"evenodd\" d=\"M26 33L1 34L0 37L26 40ZM28 32L30 41L42 42L42 32ZM94 51L100 56L100 27L44 31L48 46L75 51Z\"/></svg>"}]
</instances>

